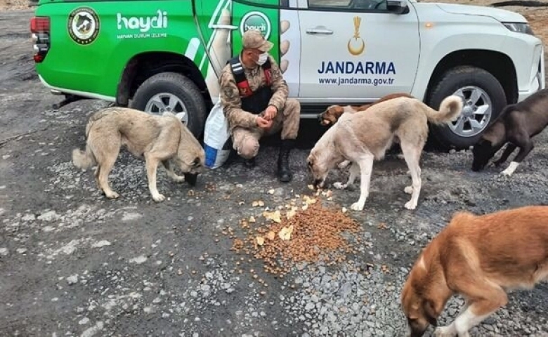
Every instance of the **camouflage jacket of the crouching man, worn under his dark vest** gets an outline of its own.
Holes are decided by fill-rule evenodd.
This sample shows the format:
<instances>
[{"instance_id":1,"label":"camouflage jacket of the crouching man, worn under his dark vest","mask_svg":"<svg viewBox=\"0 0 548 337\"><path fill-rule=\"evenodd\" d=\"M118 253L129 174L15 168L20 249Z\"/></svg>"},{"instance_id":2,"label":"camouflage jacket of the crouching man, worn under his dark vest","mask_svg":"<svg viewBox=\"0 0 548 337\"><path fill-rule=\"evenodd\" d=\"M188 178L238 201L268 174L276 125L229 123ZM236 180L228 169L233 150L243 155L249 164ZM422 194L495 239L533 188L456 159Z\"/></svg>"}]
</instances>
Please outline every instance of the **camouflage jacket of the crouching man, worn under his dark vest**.
<instances>
[{"instance_id":1,"label":"camouflage jacket of the crouching man, worn under his dark vest","mask_svg":"<svg viewBox=\"0 0 548 337\"><path fill-rule=\"evenodd\" d=\"M282 77L280 67L272 58L268 55L272 67L270 72L272 73L270 88L272 88L273 95L270 98L268 105L274 105L278 109L278 113L282 113L282 109L285 105L285 100L289 93L287 83ZM254 68L245 67L245 77L249 82L249 88L252 91L256 91L257 88L266 85L266 79L262 68L257 65ZM242 128L254 128L256 124L256 114L242 110L242 100L240 100L240 91L236 85L230 65L226 65L219 77L219 86L221 93L221 104L223 105L223 112L226 119L228 119L228 125L230 132L237 126Z\"/></svg>"}]
</instances>

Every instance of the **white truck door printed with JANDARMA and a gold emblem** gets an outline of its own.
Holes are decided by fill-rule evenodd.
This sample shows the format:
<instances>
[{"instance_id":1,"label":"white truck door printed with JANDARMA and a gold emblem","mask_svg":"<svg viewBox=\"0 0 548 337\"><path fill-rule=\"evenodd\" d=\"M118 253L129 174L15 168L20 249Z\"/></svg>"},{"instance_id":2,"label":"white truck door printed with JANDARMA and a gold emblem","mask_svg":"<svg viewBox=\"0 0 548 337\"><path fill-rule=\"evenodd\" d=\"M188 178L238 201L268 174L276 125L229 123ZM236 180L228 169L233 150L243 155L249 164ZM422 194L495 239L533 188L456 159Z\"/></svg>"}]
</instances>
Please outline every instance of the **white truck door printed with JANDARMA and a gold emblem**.
<instances>
[{"instance_id":1,"label":"white truck door printed with JANDARMA and a gold emblem","mask_svg":"<svg viewBox=\"0 0 548 337\"><path fill-rule=\"evenodd\" d=\"M306 1L306 0L304 0ZM386 0L308 0L301 24L301 102L356 102L410 93L419 62L415 9Z\"/></svg>"}]
</instances>

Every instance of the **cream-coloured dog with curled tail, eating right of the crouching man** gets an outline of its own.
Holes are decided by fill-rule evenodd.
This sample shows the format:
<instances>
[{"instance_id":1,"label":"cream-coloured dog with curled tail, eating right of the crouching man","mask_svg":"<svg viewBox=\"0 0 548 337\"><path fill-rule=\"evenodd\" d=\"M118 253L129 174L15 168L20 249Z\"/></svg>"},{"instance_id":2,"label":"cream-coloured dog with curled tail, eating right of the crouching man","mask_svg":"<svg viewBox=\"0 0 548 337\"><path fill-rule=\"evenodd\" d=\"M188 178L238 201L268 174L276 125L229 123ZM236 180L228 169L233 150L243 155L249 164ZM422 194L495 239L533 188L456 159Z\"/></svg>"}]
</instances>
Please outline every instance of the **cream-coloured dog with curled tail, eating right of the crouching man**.
<instances>
[{"instance_id":1,"label":"cream-coloured dog with curled tail, eating right of the crouching man","mask_svg":"<svg viewBox=\"0 0 548 337\"><path fill-rule=\"evenodd\" d=\"M394 138L398 138L412 178L412 185L404 190L412 194L405 208L415 209L421 190L419 159L428 137L428 122L448 123L456 119L461 110L462 99L452 95L443 100L439 112L415 98L400 97L372 105L367 114L343 114L308 155L314 185L323 187L334 166L345 159L351 161L348 181L334 183L334 187L344 189L352 185L361 173L360 199L351 206L361 211L369 195L374 159L382 159Z\"/></svg>"}]
</instances>

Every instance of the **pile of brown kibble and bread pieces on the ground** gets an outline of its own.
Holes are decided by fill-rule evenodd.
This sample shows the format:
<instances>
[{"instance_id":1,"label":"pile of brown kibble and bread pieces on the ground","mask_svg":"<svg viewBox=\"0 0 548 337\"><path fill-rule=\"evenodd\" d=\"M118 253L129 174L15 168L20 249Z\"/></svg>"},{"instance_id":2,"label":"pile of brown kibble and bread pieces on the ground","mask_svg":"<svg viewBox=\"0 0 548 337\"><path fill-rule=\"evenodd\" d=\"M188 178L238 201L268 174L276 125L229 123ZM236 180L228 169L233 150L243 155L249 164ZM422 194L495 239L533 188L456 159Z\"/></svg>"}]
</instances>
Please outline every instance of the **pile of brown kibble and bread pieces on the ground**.
<instances>
[{"instance_id":1,"label":"pile of brown kibble and bread pieces on the ground","mask_svg":"<svg viewBox=\"0 0 548 337\"><path fill-rule=\"evenodd\" d=\"M344 209L328 209L320 199L306 195L285 207L267 208L258 220L251 220L254 230L248 220L240 222L249 229L248 235L234 240L233 251L263 260L264 270L280 277L295 263L324 261L330 265L346 260L360 242L354 236L353 242L348 241L348 234L358 232L360 225Z\"/></svg>"}]
</instances>

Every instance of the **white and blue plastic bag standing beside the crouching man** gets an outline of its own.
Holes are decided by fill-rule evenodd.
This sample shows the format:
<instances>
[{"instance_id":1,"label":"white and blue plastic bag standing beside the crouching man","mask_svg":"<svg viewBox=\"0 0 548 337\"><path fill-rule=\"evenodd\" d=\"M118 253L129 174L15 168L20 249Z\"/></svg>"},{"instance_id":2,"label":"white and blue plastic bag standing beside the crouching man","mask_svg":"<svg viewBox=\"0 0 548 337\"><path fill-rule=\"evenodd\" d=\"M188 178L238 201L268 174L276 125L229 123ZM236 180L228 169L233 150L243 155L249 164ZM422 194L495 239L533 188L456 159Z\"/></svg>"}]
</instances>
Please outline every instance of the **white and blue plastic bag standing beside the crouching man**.
<instances>
[{"instance_id":1,"label":"white and blue plastic bag standing beside the crouching man","mask_svg":"<svg viewBox=\"0 0 548 337\"><path fill-rule=\"evenodd\" d=\"M218 100L209 112L204 129L205 166L216 169L223 165L231 149L228 121L223 113L221 100Z\"/></svg>"}]
</instances>

